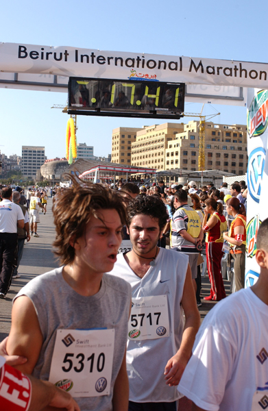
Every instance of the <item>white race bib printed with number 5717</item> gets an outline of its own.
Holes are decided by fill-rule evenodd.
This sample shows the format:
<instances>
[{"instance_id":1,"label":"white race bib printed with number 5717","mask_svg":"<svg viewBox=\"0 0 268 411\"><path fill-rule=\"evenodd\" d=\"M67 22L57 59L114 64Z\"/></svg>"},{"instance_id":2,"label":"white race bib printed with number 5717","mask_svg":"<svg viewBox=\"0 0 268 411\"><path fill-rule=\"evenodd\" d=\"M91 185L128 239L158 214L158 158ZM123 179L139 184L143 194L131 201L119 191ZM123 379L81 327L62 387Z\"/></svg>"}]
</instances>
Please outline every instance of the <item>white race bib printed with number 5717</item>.
<instances>
[{"instance_id":1,"label":"white race bib printed with number 5717","mask_svg":"<svg viewBox=\"0 0 268 411\"><path fill-rule=\"evenodd\" d=\"M129 340L169 337L167 295L132 298L127 335Z\"/></svg>"}]
</instances>

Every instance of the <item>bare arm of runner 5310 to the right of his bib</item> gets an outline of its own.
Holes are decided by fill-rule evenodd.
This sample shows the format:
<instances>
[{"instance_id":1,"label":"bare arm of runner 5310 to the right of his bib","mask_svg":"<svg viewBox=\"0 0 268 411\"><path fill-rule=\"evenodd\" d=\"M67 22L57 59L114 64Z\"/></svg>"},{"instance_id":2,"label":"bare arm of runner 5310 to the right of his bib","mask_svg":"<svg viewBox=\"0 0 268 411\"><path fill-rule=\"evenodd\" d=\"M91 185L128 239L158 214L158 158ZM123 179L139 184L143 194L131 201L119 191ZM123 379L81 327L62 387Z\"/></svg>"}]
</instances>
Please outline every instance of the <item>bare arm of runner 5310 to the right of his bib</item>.
<instances>
[{"instance_id":1,"label":"bare arm of runner 5310 to the right of his bib","mask_svg":"<svg viewBox=\"0 0 268 411\"><path fill-rule=\"evenodd\" d=\"M126 353L125 353L126 354ZM129 399L129 384L127 377L127 366L125 356L123 358L121 369L117 375L117 379L114 383L114 393L112 397L112 410L113 411L127 411L128 399Z\"/></svg>"}]
</instances>

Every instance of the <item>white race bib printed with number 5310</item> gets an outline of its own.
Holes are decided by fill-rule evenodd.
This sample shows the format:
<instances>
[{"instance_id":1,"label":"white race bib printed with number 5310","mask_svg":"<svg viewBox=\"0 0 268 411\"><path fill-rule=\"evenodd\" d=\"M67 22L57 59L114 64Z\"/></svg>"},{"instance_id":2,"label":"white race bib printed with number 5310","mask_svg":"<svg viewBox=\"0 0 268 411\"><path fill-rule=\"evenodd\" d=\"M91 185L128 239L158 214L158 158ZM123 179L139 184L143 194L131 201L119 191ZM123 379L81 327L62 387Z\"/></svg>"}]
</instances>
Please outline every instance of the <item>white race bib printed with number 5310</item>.
<instances>
[{"instance_id":1,"label":"white race bib printed with number 5310","mask_svg":"<svg viewBox=\"0 0 268 411\"><path fill-rule=\"evenodd\" d=\"M109 395L114 329L58 329L49 381L72 397Z\"/></svg>"}]
</instances>

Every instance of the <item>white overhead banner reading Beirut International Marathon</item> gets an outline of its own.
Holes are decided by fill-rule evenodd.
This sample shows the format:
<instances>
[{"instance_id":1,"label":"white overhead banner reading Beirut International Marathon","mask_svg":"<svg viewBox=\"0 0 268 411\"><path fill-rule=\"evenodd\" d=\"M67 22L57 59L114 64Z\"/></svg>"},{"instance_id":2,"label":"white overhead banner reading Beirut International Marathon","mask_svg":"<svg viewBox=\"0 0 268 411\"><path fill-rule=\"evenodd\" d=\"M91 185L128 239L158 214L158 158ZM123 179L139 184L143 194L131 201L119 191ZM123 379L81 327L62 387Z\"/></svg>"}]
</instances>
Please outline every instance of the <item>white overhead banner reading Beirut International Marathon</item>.
<instances>
[{"instance_id":1,"label":"white overhead banner reading Beirut International Marathon","mask_svg":"<svg viewBox=\"0 0 268 411\"><path fill-rule=\"evenodd\" d=\"M0 43L0 71L268 88L268 64Z\"/></svg>"}]
</instances>

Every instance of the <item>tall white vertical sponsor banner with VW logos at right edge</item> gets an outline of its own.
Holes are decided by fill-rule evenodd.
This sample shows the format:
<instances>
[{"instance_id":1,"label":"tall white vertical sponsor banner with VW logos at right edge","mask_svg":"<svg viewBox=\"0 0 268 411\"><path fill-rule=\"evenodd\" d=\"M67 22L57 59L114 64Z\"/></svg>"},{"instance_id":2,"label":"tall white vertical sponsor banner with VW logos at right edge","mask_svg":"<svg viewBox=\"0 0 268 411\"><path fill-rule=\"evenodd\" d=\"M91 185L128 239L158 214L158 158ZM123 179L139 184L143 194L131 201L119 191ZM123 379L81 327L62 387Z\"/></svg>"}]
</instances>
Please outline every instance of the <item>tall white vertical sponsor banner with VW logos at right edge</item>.
<instances>
[{"instance_id":1,"label":"tall white vertical sponsor banner with VW logos at right edge","mask_svg":"<svg viewBox=\"0 0 268 411\"><path fill-rule=\"evenodd\" d=\"M247 90L247 259L245 286L258 279L259 266L255 260L256 236L261 222L268 217L268 91Z\"/></svg>"}]
</instances>

